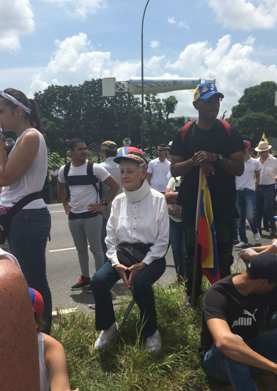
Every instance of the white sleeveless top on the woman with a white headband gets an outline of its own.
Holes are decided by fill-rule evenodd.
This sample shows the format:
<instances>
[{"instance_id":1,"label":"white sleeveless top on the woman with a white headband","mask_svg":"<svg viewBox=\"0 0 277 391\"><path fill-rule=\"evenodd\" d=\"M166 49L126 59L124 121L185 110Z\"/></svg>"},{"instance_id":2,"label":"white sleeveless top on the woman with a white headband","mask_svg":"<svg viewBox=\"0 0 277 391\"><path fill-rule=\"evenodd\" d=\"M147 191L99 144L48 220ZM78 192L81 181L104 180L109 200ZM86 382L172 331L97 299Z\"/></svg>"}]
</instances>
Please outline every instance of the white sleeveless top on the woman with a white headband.
<instances>
[{"instance_id":1,"label":"white sleeveless top on the woman with a white headband","mask_svg":"<svg viewBox=\"0 0 277 391\"><path fill-rule=\"evenodd\" d=\"M26 129L16 140L10 153L13 153L16 145L28 131L33 130L39 135L39 149L31 167L10 186L5 186L0 195L1 206L13 206L27 194L39 192L42 190L47 174L47 149L43 135L36 129L30 127ZM36 199L27 204L23 209L40 209L45 208L46 204L42 198Z\"/></svg>"}]
</instances>

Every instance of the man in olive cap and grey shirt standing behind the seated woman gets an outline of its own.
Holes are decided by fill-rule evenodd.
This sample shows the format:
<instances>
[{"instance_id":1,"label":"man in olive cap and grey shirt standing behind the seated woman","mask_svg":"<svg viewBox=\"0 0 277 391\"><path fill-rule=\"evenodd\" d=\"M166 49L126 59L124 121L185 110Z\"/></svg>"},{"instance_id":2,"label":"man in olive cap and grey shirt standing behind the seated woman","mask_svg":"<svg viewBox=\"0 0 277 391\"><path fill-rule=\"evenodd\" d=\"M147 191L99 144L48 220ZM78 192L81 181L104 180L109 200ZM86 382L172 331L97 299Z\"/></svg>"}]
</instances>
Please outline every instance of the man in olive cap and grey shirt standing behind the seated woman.
<instances>
[{"instance_id":1,"label":"man in olive cap and grey shirt standing behind the seated woman","mask_svg":"<svg viewBox=\"0 0 277 391\"><path fill-rule=\"evenodd\" d=\"M117 145L113 141L104 141L101 145L101 152L103 159L105 160L103 163L100 163L102 167L104 167L109 174L111 174L114 179L116 179L120 185L120 188L118 189L118 192L116 195L123 192L122 184L120 180L120 171L118 169L118 164L114 161L114 158L117 155ZM102 183L102 200L105 199L109 192L109 187L105 185L105 183ZM107 236L107 221L109 220L110 214L111 214L111 207L112 203L110 202L107 208L105 208L102 212L102 232L101 232L101 243L102 243L102 249L104 252L104 263L108 262L108 258L106 255L107 252L107 246L105 244L105 237Z\"/></svg>"}]
</instances>

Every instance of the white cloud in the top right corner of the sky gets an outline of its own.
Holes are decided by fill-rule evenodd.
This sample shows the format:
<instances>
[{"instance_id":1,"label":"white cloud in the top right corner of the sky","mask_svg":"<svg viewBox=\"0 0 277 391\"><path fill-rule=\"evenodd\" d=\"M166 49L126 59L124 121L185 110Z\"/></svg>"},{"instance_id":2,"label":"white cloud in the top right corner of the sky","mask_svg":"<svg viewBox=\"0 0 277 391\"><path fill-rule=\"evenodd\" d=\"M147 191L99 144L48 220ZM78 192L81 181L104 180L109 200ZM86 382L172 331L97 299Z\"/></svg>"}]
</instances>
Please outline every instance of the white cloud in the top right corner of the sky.
<instances>
[{"instance_id":1,"label":"white cloud in the top right corner of the sky","mask_svg":"<svg viewBox=\"0 0 277 391\"><path fill-rule=\"evenodd\" d=\"M277 22L276 0L209 0L209 6L218 22L231 29L272 29Z\"/></svg>"}]
</instances>

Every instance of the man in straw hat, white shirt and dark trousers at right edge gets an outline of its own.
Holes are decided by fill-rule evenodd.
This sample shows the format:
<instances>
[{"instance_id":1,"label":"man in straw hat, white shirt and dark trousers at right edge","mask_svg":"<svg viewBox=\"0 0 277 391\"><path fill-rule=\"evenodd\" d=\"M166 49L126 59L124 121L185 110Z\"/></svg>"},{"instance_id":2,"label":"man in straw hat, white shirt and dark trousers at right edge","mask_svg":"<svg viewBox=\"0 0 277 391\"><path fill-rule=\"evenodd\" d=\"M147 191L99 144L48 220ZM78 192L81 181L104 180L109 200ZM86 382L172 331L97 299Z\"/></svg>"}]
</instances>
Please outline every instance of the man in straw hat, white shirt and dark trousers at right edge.
<instances>
[{"instance_id":1,"label":"man in straw hat, white shirt and dark trousers at right edge","mask_svg":"<svg viewBox=\"0 0 277 391\"><path fill-rule=\"evenodd\" d=\"M270 156L271 145L266 141L260 141L255 151L259 152L260 181L256 190L256 219L259 233L261 234L261 221L263 211L268 215L270 224L270 235L276 233L276 224L273 218L273 199L275 194L275 183L277 181L277 159Z\"/></svg>"}]
</instances>

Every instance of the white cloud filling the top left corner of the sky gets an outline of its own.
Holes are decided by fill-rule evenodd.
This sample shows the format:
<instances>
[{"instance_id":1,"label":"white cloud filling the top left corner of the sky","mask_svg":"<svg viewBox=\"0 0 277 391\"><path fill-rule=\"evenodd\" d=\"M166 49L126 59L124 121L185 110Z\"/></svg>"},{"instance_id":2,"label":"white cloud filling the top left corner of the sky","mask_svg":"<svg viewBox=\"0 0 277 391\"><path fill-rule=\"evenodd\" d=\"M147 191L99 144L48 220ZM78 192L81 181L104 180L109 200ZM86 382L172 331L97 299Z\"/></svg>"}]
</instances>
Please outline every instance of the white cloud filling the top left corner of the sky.
<instances>
[{"instance_id":1,"label":"white cloud filling the top left corner of the sky","mask_svg":"<svg viewBox=\"0 0 277 391\"><path fill-rule=\"evenodd\" d=\"M20 50L20 35L34 30L34 14L29 0L14 0L13 6L0 2L0 50Z\"/></svg>"}]
</instances>

